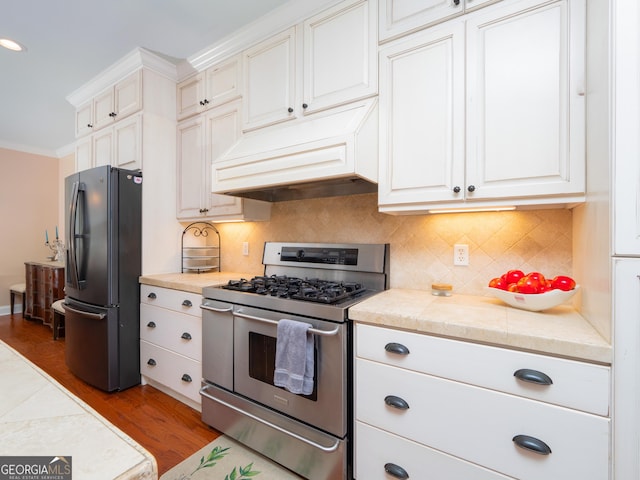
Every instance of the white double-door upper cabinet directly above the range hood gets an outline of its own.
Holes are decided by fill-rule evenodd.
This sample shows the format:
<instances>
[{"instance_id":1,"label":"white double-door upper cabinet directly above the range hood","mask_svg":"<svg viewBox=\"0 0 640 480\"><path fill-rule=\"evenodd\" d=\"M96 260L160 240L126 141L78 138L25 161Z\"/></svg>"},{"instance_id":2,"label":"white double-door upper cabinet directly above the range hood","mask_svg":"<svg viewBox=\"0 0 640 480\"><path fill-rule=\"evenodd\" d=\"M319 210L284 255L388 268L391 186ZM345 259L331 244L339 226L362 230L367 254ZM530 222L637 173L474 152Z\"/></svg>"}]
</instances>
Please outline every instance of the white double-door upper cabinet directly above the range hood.
<instances>
[{"instance_id":1,"label":"white double-door upper cabinet directly above the range hood","mask_svg":"<svg viewBox=\"0 0 640 480\"><path fill-rule=\"evenodd\" d=\"M342 2L243 53L245 131L377 92L377 2Z\"/></svg>"}]
</instances>

